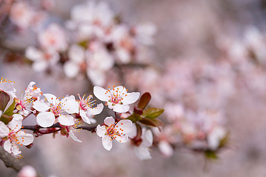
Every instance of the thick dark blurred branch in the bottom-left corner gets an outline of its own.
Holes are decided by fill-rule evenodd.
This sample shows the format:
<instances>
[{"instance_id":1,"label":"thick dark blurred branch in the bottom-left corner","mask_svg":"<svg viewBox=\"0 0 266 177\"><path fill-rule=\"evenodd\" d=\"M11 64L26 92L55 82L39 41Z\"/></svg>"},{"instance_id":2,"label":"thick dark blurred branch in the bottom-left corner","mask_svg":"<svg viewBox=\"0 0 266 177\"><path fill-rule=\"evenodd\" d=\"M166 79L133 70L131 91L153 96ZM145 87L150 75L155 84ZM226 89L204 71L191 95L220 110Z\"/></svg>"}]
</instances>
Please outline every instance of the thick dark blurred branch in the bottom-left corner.
<instances>
[{"instance_id":1,"label":"thick dark blurred branch in the bottom-left corner","mask_svg":"<svg viewBox=\"0 0 266 177\"><path fill-rule=\"evenodd\" d=\"M27 165L22 160L5 151L2 146L0 146L0 159L5 163L6 167L13 168L17 172L19 172L23 166ZM37 176L42 177L43 175L37 172Z\"/></svg>"}]
</instances>

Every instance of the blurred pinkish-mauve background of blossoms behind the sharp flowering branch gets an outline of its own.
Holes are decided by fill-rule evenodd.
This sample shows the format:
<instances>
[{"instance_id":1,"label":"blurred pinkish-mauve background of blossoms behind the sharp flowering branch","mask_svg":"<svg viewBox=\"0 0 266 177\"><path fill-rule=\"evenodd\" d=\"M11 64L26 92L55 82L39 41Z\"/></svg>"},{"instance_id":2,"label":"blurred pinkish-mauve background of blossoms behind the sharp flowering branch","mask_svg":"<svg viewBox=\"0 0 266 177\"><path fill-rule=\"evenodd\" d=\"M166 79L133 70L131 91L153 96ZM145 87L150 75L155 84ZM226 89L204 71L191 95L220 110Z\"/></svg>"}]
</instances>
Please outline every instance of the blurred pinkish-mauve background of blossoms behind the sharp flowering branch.
<instances>
[{"instance_id":1,"label":"blurred pinkish-mauve background of blossoms behind the sharp flowering branch","mask_svg":"<svg viewBox=\"0 0 266 177\"><path fill-rule=\"evenodd\" d=\"M102 2L0 0L0 76L16 81L18 97L30 81L57 97L92 94L93 85L149 92L150 106L165 108L159 119L171 129L168 135L163 128L171 139L157 135L155 141L174 151L155 145L152 159L140 161L130 143L115 143L108 152L84 130L76 135L83 143L35 138L31 149L21 148L22 160L44 176L265 176L266 2L110 0L98 6ZM49 28L55 23L60 27ZM84 49L69 52L74 43ZM105 107L95 119L110 114ZM29 117L23 124L35 123ZM215 142L225 135L219 148ZM219 158L206 158L202 148ZM17 175L3 163L0 170Z\"/></svg>"}]
</instances>

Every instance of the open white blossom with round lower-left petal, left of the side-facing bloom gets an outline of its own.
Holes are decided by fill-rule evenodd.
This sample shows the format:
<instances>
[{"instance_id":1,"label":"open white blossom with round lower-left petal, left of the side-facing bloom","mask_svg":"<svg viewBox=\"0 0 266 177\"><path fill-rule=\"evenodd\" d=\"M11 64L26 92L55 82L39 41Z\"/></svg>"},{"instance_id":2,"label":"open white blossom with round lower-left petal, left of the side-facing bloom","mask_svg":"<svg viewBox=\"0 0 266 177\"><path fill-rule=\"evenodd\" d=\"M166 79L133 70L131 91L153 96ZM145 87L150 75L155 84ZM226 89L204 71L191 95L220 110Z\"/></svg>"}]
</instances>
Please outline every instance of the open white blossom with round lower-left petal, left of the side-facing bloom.
<instances>
[{"instance_id":1,"label":"open white blossom with round lower-left petal, left of the side-facing bloom","mask_svg":"<svg viewBox=\"0 0 266 177\"><path fill-rule=\"evenodd\" d=\"M48 106L46 103L42 101L35 101L33 103L33 108L37 111L40 111L37 115L37 123L42 127L52 126L58 118L58 121L62 125L73 125L74 118L71 115L63 115L63 112L73 114L79 113L79 103L75 101L74 96L65 97L61 101L57 97L52 94L44 94L47 101L50 103ZM51 111L50 111L51 110Z\"/></svg>"}]
</instances>

